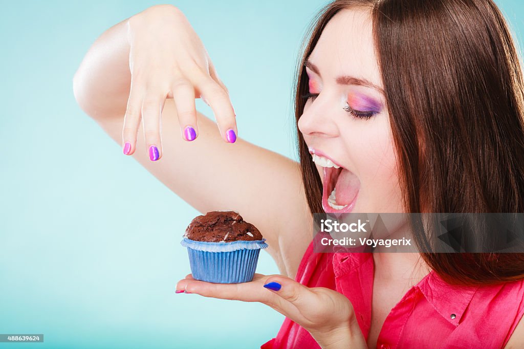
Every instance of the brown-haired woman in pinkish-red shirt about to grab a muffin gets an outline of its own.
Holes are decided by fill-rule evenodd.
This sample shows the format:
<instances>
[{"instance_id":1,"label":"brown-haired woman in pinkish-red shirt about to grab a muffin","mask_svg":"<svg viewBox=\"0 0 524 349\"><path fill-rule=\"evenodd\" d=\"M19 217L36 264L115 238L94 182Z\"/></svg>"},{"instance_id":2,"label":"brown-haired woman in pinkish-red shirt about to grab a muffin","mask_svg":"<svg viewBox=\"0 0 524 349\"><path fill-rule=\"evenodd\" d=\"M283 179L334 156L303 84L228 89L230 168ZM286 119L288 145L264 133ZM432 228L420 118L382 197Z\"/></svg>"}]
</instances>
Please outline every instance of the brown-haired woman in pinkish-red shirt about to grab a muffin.
<instances>
[{"instance_id":1,"label":"brown-haired woman in pinkish-red shirt about to grab a muffin","mask_svg":"<svg viewBox=\"0 0 524 349\"><path fill-rule=\"evenodd\" d=\"M266 348L524 346L521 254L311 245L314 212L523 212L524 83L495 4L335 1L310 34L296 86L300 164L236 137L227 89L175 7L108 29L75 74L78 103L124 154L200 212L241 212L282 274L239 285L188 276L177 290L286 315Z\"/></svg>"}]
</instances>

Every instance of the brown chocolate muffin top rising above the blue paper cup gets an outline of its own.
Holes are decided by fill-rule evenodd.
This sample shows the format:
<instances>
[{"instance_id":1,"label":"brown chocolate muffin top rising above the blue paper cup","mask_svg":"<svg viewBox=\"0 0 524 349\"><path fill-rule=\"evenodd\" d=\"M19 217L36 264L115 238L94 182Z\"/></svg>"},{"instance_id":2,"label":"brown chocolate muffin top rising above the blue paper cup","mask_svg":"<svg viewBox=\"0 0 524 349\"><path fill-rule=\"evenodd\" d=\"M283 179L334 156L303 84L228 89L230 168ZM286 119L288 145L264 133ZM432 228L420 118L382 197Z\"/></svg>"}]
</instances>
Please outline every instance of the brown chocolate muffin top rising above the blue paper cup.
<instances>
[{"instance_id":1,"label":"brown chocolate muffin top rising above the blue paper cup","mask_svg":"<svg viewBox=\"0 0 524 349\"><path fill-rule=\"evenodd\" d=\"M261 240L262 234L234 211L213 211L195 217L184 237L194 241L233 242Z\"/></svg>"}]
</instances>

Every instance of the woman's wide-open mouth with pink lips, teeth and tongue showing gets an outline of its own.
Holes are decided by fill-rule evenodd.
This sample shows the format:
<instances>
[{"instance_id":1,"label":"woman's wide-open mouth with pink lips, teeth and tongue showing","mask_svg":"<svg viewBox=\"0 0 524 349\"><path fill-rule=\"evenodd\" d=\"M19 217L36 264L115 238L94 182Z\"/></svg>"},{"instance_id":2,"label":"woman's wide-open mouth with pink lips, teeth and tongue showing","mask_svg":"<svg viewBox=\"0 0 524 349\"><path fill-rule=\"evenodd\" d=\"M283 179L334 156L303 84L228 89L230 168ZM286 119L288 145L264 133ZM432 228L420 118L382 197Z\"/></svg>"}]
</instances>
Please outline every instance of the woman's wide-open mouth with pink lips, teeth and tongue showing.
<instances>
[{"instance_id":1,"label":"woman's wide-open mouth with pink lips, teeth and tongue showing","mask_svg":"<svg viewBox=\"0 0 524 349\"><path fill-rule=\"evenodd\" d=\"M327 213L349 213L355 207L360 180L350 170L337 165L319 151L312 151L313 162L323 168L322 208Z\"/></svg>"}]
</instances>

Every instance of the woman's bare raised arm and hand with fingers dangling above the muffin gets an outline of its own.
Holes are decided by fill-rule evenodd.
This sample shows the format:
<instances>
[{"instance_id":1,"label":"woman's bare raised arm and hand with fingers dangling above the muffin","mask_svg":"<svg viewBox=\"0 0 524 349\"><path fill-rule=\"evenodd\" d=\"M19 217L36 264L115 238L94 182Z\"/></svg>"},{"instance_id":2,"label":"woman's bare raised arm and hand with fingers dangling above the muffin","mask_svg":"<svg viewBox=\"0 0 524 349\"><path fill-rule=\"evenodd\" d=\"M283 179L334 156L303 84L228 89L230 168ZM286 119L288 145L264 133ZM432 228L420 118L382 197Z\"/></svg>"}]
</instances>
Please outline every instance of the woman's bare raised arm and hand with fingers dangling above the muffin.
<instances>
[{"instance_id":1,"label":"woman's bare raised arm and hand with fingers dangling above the muffin","mask_svg":"<svg viewBox=\"0 0 524 349\"><path fill-rule=\"evenodd\" d=\"M240 212L267 238L282 274L294 277L312 227L299 166L243 139L232 143L227 131L236 134L236 123L227 90L177 8L154 6L108 29L73 85L82 109L124 152L198 211ZM218 129L195 111L201 95ZM198 136L192 141L188 125Z\"/></svg>"}]
</instances>

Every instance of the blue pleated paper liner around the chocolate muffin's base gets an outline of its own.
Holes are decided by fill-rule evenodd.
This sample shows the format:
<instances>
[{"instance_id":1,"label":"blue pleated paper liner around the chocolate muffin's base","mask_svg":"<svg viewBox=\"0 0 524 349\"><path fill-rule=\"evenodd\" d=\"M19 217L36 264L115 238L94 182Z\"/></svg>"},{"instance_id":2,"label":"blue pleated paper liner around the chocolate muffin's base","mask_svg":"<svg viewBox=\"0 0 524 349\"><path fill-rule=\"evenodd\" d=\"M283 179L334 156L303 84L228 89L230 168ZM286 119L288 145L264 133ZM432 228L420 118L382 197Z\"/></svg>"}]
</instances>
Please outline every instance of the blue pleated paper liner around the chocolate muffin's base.
<instances>
[{"instance_id":1,"label":"blue pleated paper liner around the chocolate muffin's base","mask_svg":"<svg viewBox=\"0 0 524 349\"><path fill-rule=\"evenodd\" d=\"M184 238L188 248L191 274L196 280L214 283L240 283L253 280L260 249L266 239L210 243Z\"/></svg>"}]
</instances>

